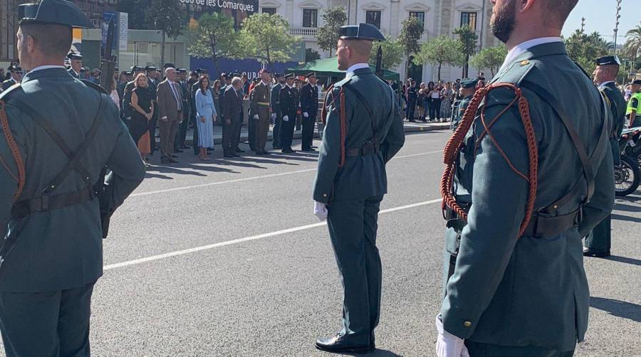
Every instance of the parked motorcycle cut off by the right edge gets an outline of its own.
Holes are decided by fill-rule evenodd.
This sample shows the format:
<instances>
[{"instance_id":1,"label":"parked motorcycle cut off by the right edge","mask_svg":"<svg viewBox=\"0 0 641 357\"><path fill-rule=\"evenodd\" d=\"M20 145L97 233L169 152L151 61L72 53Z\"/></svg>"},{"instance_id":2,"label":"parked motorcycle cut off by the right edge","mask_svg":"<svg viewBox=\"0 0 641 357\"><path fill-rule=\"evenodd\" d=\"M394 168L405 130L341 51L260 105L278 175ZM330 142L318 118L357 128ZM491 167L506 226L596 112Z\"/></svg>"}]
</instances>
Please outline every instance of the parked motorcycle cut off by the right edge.
<instances>
[{"instance_id":1,"label":"parked motorcycle cut off by the right edge","mask_svg":"<svg viewBox=\"0 0 641 357\"><path fill-rule=\"evenodd\" d=\"M615 194L637 191L641 181L641 127L623 129L619 139L620 164L615 166Z\"/></svg>"}]
</instances>

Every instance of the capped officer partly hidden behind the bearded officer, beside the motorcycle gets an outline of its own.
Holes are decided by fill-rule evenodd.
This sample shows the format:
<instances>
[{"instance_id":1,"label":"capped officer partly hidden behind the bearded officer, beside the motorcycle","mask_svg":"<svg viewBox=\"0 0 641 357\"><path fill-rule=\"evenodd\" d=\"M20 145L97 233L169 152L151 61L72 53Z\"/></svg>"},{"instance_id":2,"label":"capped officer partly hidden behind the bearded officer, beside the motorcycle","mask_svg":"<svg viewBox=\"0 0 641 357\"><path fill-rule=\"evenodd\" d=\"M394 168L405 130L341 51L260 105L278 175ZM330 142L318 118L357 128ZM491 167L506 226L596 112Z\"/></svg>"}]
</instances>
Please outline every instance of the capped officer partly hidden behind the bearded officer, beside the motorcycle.
<instances>
[{"instance_id":1,"label":"capped officer partly hidden behind the bearded officer, beside the motorcycle","mask_svg":"<svg viewBox=\"0 0 641 357\"><path fill-rule=\"evenodd\" d=\"M621 62L615 55L607 55L596 59L596 69L593 80L601 92L608 97L608 104L613 115L613 126L610 131L610 148L612 149L613 162L620 163L618 139L625 127L625 99L617 89L616 79ZM585 238L583 255L587 257L610 256L610 220L608 215Z\"/></svg>"}]
</instances>

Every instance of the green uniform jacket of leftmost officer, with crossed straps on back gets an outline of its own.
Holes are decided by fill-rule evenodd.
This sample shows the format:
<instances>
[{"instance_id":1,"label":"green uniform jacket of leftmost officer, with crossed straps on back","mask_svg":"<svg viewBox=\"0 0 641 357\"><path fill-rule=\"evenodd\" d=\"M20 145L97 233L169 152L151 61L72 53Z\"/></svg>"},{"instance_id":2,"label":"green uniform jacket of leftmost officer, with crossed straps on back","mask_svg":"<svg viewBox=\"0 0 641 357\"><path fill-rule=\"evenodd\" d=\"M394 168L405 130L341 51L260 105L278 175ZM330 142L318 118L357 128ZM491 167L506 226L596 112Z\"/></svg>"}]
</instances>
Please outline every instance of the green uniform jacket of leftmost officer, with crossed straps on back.
<instances>
[{"instance_id":1,"label":"green uniform jacket of leftmost officer, with crossed straps on back","mask_svg":"<svg viewBox=\"0 0 641 357\"><path fill-rule=\"evenodd\" d=\"M21 87L3 98L11 134L19 146L26 170L26 183L18 201L41 196L43 188L68 159L31 117L11 103L20 100L31 105L74 149L89 131L101 95L103 109L98 120L102 124L80 162L94 183L104 166L112 170L108 180L115 185L113 203L116 207L144 179L145 166L110 97L71 77L64 68L37 70L27 73ZM16 165L4 134L0 135L0 156L16 175ZM0 291L53 292L82 287L98 279L103 274L98 199L13 219L11 207L16 188L16 181L9 171L0 166L0 237L16 240L10 254L3 257ZM77 171L71 171L53 194L82 188L85 188L82 178ZM0 252L4 253L4 249Z\"/></svg>"}]
</instances>

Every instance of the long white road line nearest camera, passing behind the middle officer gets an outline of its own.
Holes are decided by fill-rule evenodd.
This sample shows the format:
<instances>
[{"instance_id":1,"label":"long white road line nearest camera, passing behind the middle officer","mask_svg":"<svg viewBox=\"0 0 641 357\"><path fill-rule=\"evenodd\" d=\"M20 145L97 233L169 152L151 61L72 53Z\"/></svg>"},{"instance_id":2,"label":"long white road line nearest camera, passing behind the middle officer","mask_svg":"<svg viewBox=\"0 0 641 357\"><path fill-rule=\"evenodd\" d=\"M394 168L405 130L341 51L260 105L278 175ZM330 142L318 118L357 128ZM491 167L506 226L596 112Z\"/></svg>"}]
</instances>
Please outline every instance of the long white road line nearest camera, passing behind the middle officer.
<instances>
[{"instance_id":1,"label":"long white road line nearest camera, passing behind the middle officer","mask_svg":"<svg viewBox=\"0 0 641 357\"><path fill-rule=\"evenodd\" d=\"M415 207L419 207L419 206L429 205L429 204L432 204L432 203L438 203L438 202L441 202L441 201L442 201L442 198L437 198L435 200L424 201L424 202L419 202L419 203L412 203L412 204L406 205L406 206L387 208L385 210L381 210L379 213L380 214L382 214L382 213L390 213L390 212L405 210L405 209L408 209L408 208L415 208ZM217 248L217 247L224 247L226 245L234 245L234 244L249 242L251 240L259 240L259 239L263 239L263 238L274 237L276 235L283 235L283 234L287 234L287 233L298 232L298 231L301 231L301 230L308 230L308 229L311 229L311 228L322 227L323 225L327 225L327 223L326 222L319 222L319 223L313 223L313 224L308 224L308 225L301 225L300 227L288 228L288 229L283 229L283 230L276 230L276 232L263 233L263 234L259 234L259 235L252 235L251 237L239 238L239 239L234 239L234 240L227 240L225 242L220 242L220 243L201 245L199 247L193 247L193 248L184 249L184 250L177 250L175 252L168 252L168 253L160 254L160 255L152 255L151 257L144 257L144 258L140 258L140 259L129 260L127 262L121 262L121 263L105 265L105 267L103 267L103 270L112 270L112 269L116 269L116 268L119 268L119 267L128 267L130 265L142 264L144 262L152 262L154 260L161 260L161 259L165 259L165 258L168 258L168 257L176 257L177 255L185 255L185 254L189 254L189 253L193 253L193 252L200 252L202 250L210 250L210 249L214 249L214 248Z\"/></svg>"}]
</instances>

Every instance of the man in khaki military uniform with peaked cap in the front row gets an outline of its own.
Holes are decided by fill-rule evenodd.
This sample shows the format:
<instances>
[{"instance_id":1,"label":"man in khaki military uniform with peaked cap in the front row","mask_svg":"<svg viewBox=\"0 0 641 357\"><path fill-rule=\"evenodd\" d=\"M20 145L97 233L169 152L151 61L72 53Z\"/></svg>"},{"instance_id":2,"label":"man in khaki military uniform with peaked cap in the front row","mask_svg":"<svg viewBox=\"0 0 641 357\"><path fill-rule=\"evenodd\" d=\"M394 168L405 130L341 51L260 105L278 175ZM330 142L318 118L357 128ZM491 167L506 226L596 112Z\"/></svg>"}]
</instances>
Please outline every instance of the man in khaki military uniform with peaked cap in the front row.
<instances>
[{"instance_id":1,"label":"man in khaki military uniform with peaked cap in the front row","mask_svg":"<svg viewBox=\"0 0 641 357\"><path fill-rule=\"evenodd\" d=\"M259 72L261 81L254 85L254 88L249 94L249 105L251 110L251 118L254 124L254 151L256 155L269 154L265 150L267 144L267 132L269 132L269 114L271 114L271 107L269 106L269 99L271 94L269 92L269 71L262 69Z\"/></svg>"}]
</instances>

